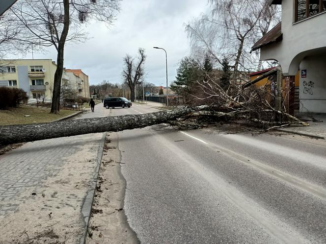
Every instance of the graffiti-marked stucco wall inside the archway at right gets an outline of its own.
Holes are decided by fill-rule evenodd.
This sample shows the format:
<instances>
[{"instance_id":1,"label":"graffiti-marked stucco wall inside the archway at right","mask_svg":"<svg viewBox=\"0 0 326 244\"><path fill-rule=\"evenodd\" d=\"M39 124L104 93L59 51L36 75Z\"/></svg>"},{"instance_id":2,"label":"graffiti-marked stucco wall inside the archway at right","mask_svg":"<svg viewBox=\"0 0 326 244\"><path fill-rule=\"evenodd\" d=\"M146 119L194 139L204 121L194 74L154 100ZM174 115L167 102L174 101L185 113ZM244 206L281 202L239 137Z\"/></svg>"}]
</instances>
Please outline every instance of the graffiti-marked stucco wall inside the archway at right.
<instances>
[{"instance_id":1,"label":"graffiti-marked stucco wall inside the archway at right","mask_svg":"<svg viewBox=\"0 0 326 244\"><path fill-rule=\"evenodd\" d=\"M306 70L306 77L302 77L302 70ZM326 53L301 61L299 81L300 112L326 113Z\"/></svg>"}]
</instances>

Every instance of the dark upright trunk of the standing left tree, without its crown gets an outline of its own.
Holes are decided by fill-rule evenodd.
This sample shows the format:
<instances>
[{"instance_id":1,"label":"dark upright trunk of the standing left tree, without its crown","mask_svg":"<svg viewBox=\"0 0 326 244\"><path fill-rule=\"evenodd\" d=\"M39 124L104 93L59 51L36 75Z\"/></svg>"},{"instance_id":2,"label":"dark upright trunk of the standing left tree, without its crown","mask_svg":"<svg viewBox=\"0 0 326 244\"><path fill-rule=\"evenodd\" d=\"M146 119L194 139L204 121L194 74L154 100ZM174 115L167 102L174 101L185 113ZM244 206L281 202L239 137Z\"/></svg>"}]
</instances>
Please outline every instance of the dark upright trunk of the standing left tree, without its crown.
<instances>
[{"instance_id":1,"label":"dark upright trunk of the standing left tree, without its crown","mask_svg":"<svg viewBox=\"0 0 326 244\"><path fill-rule=\"evenodd\" d=\"M63 73L63 54L64 45L69 30L69 0L63 0L64 6L64 25L61 33L60 41L57 47L57 57L56 57L56 70L54 73L54 85L53 85L53 95L52 95L52 106L50 113L58 114L60 111L60 90L61 90L61 78Z\"/></svg>"}]
</instances>

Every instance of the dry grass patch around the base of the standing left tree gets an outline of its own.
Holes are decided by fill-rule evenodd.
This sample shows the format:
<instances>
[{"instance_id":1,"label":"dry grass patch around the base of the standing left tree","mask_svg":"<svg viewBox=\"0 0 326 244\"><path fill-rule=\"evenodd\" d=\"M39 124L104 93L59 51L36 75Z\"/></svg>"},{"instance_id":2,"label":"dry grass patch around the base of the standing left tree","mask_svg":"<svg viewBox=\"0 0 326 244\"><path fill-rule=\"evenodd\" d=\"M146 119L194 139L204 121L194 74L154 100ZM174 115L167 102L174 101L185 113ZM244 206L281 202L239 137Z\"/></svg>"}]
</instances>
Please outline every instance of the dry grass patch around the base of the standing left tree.
<instances>
[{"instance_id":1,"label":"dry grass patch around the base of the standing left tree","mask_svg":"<svg viewBox=\"0 0 326 244\"><path fill-rule=\"evenodd\" d=\"M0 125L52 122L76 110L60 110L60 114L50 114L50 108L21 105L18 108L0 110ZM25 117L24 115L30 115Z\"/></svg>"}]
</instances>

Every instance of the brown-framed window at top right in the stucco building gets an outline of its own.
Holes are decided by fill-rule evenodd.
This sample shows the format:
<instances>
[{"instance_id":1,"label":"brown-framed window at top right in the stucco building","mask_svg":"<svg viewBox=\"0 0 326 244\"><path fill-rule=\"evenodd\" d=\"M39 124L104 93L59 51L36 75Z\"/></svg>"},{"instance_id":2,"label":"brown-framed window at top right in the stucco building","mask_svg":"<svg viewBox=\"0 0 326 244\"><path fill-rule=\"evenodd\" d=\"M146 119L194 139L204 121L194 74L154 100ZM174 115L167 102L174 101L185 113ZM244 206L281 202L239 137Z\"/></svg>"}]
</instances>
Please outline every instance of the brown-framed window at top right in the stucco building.
<instances>
[{"instance_id":1,"label":"brown-framed window at top right in the stucco building","mask_svg":"<svg viewBox=\"0 0 326 244\"><path fill-rule=\"evenodd\" d=\"M295 22L326 11L326 0L296 0Z\"/></svg>"}]
</instances>

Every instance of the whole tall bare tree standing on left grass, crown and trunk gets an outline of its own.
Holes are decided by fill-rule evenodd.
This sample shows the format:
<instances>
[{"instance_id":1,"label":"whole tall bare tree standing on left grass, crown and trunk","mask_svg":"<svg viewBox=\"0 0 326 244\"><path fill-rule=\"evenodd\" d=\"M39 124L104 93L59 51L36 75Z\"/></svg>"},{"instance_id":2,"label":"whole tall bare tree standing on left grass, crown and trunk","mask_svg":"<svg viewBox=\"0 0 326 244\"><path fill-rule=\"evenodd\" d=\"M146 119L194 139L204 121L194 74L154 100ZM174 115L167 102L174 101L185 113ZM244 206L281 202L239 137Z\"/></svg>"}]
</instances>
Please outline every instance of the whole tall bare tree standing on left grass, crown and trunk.
<instances>
[{"instance_id":1,"label":"whole tall bare tree standing on left grass, crown and trunk","mask_svg":"<svg viewBox=\"0 0 326 244\"><path fill-rule=\"evenodd\" d=\"M59 113L61 76L66 42L80 42L86 38L81 24L93 19L111 24L119 10L120 0L21 0L14 4L11 23L24 29L16 40L39 47L54 46L57 68L51 113Z\"/></svg>"}]
</instances>

